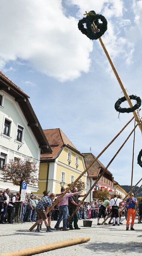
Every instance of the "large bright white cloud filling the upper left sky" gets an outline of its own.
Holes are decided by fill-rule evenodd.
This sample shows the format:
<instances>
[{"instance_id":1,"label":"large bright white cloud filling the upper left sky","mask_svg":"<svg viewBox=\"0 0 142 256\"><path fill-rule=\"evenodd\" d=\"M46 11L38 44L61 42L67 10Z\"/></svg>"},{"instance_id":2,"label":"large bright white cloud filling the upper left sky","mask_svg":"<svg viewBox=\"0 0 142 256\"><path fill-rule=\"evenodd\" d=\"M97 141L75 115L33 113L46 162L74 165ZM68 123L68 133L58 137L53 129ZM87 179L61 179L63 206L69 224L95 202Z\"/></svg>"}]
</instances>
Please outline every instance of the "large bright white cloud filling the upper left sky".
<instances>
[{"instance_id":1,"label":"large bright white cloud filling the upper left sky","mask_svg":"<svg viewBox=\"0 0 142 256\"><path fill-rule=\"evenodd\" d=\"M74 80L89 71L93 49L77 23L63 14L61 0L1 2L0 67L19 58L48 76Z\"/></svg>"}]
</instances>

